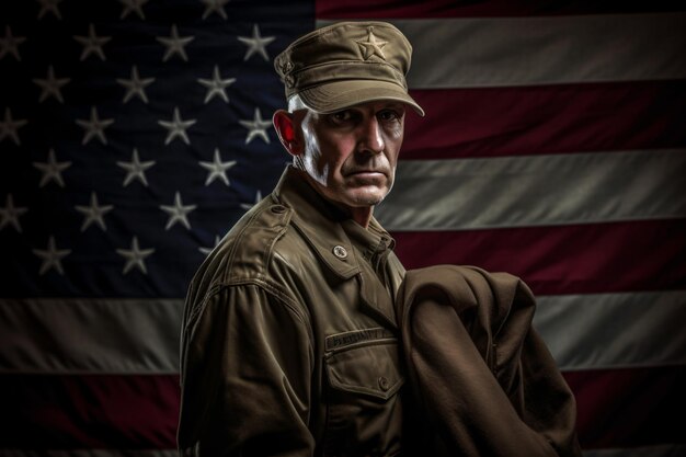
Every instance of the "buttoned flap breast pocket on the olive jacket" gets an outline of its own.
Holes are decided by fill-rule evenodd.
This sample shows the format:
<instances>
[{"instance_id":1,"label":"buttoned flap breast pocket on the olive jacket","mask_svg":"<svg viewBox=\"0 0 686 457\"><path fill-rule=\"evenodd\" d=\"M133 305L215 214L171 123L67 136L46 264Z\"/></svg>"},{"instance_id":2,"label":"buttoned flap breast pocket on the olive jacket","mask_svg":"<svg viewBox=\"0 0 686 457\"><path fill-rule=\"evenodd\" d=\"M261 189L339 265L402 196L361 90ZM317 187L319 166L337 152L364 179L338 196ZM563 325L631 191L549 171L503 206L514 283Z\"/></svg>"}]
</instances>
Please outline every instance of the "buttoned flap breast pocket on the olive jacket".
<instances>
[{"instance_id":1,"label":"buttoned flap breast pocket on the olive jacket","mask_svg":"<svg viewBox=\"0 0 686 457\"><path fill-rule=\"evenodd\" d=\"M324 448L338 456L395 454L404 384L398 340L385 329L368 329L331 335L327 349Z\"/></svg>"}]
</instances>

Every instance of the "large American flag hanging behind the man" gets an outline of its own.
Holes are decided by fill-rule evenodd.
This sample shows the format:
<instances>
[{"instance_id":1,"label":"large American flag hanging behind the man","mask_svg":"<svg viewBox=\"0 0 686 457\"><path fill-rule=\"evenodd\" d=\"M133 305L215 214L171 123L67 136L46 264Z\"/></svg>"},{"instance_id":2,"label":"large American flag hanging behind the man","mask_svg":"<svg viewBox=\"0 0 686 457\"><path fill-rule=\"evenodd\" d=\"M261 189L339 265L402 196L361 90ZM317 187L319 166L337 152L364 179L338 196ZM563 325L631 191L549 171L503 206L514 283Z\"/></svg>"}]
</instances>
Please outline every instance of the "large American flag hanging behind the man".
<instances>
[{"instance_id":1,"label":"large American flag hanging behind the man","mask_svg":"<svg viewBox=\"0 0 686 457\"><path fill-rule=\"evenodd\" d=\"M408 269L521 276L585 456L686 455L686 13L674 2L3 0L0 456L172 456L204 255L288 161L273 58L340 19L414 47Z\"/></svg>"}]
</instances>

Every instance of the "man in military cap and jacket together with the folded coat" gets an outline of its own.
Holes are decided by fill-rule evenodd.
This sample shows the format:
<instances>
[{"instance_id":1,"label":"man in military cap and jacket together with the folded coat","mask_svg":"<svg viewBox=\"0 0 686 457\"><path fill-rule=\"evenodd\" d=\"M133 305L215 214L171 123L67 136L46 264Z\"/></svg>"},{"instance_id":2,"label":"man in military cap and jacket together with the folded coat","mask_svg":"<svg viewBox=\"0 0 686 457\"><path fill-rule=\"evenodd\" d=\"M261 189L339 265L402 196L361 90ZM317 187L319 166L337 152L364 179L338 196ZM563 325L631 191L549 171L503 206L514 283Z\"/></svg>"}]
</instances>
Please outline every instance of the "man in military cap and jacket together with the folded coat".
<instances>
[{"instance_id":1,"label":"man in military cap and jacket together with the folded coat","mask_svg":"<svg viewBox=\"0 0 686 457\"><path fill-rule=\"evenodd\" d=\"M390 24L343 22L275 59L293 165L188 289L181 455L581 455L526 285L450 265L405 275L373 216L405 113L424 114L411 52Z\"/></svg>"}]
</instances>

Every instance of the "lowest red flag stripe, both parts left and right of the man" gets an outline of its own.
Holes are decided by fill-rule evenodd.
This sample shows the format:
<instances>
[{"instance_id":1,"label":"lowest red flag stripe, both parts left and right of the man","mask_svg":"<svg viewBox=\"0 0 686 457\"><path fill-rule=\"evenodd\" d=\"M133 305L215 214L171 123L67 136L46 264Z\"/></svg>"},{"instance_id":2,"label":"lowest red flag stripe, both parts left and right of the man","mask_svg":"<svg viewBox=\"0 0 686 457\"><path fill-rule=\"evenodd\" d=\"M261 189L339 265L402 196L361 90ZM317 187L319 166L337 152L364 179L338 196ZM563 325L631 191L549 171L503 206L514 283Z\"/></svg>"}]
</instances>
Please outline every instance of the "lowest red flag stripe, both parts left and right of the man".
<instances>
[{"instance_id":1,"label":"lowest red flag stripe, both parts left and right of the man","mask_svg":"<svg viewBox=\"0 0 686 457\"><path fill-rule=\"evenodd\" d=\"M686 367L565 372L584 448L686 443ZM0 377L0 447L173 449L179 378Z\"/></svg>"}]
</instances>

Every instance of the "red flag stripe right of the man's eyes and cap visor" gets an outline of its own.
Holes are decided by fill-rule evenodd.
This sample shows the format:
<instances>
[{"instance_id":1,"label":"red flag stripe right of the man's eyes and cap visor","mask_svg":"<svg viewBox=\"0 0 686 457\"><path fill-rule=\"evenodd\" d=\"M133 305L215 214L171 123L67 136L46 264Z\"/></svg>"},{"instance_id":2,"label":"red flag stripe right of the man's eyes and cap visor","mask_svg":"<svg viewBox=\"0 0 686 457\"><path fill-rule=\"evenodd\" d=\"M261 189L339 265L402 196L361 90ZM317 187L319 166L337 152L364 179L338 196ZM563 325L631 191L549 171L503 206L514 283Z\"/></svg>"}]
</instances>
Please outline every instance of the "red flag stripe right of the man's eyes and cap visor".
<instances>
[{"instance_id":1,"label":"red flag stripe right of the man's eyes and cap visor","mask_svg":"<svg viewBox=\"0 0 686 457\"><path fill-rule=\"evenodd\" d=\"M401 158L683 147L685 91L686 80L413 90L426 116L408 116Z\"/></svg>"}]
</instances>

